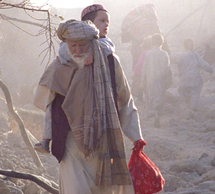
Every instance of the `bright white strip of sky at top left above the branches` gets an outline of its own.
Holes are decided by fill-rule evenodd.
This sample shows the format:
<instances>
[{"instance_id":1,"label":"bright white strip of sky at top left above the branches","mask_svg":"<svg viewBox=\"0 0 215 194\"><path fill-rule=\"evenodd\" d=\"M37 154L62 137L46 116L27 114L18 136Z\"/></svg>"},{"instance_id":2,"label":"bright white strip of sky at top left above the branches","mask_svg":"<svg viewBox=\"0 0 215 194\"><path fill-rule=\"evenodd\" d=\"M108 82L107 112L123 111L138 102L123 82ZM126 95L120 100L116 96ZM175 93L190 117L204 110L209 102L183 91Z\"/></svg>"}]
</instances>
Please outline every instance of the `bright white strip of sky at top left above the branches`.
<instances>
[{"instance_id":1,"label":"bright white strip of sky at top left above the branches","mask_svg":"<svg viewBox=\"0 0 215 194\"><path fill-rule=\"evenodd\" d=\"M93 0L31 0L31 2L38 6L48 3L54 7L61 8L78 8L93 4Z\"/></svg>"}]
</instances>

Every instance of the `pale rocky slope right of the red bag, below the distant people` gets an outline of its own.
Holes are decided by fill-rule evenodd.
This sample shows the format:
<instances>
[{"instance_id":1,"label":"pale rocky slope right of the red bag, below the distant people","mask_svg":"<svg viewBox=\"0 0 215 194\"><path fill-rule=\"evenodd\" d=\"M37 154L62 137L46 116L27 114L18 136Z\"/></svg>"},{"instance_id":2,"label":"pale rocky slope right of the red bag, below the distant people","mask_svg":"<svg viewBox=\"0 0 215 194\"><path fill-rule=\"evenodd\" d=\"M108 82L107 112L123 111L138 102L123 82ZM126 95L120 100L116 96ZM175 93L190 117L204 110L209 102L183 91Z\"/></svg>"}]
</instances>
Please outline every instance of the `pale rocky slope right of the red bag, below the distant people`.
<instances>
[{"instance_id":1,"label":"pale rocky slope right of the red bag, below the distant people","mask_svg":"<svg viewBox=\"0 0 215 194\"><path fill-rule=\"evenodd\" d=\"M136 102L147 146L145 153L166 179L162 193L215 193L215 82L206 80L199 110L180 102L177 87L168 90L161 128L145 115L144 102Z\"/></svg>"}]
</instances>

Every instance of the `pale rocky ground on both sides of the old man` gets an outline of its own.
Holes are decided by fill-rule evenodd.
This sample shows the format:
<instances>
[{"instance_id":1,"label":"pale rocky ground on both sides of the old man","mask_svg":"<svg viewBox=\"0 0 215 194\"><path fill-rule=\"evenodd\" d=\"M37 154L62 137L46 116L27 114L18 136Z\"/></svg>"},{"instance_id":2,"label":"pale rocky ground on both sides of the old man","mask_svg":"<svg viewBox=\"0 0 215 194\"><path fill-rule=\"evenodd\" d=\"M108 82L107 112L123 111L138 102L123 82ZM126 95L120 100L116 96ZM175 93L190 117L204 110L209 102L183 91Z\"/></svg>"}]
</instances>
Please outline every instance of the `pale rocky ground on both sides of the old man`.
<instances>
[{"instance_id":1,"label":"pale rocky ground on both sides of the old man","mask_svg":"<svg viewBox=\"0 0 215 194\"><path fill-rule=\"evenodd\" d=\"M160 168L166 184L165 194L215 193L215 88L214 78L205 75L199 110L192 112L179 100L177 74L167 92L167 103L161 117L161 128L153 126L153 119L145 115L145 103L136 101L147 146L145 153ZM41 138L43 113L32 105L18 109L26 128L37 139ZM30 108L31 107L31 108ZM58 183L58 163L49 154L39 154L43 168L38 168L22 139L17 123L8 113L4 95L0 98L0 165L2 170L13 170L44 177ZM37 140L29 135L32 143ZM132 145L126 139L127 158ZM55 185L53 183L53 185ZM51 184L51 183L49 183ZM0 193L45 194L32 181L0 176Z\"/></svg>"}]
</instances>

